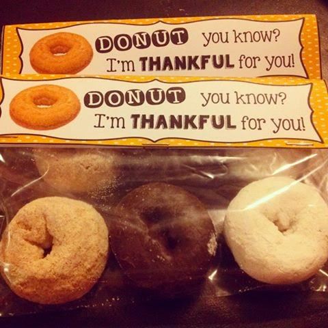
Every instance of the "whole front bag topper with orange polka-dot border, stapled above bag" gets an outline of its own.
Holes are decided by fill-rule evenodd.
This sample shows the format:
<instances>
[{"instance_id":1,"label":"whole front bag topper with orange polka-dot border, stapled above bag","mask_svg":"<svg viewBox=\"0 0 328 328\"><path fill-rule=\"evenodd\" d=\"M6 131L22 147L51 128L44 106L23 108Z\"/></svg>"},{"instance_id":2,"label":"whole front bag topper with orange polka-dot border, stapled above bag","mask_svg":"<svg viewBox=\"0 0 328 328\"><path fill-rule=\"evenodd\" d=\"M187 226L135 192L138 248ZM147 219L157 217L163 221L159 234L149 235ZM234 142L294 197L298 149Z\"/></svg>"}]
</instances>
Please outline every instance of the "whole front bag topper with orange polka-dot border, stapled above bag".
<instances>
[{"instance_id":1,"label":"whole front bag topper with orange polka-dot border, stapled above bag","mask_svg":"<svg viewBox=\"0 0 328 328\"><path fill-rule=\"evenodd\" d=\"M328 97L323 81L278 78L172 81L172 77L148 81L143 77L143 80L146 81L3 78L0 141L270 147L325 147L327 143ZM57 91L58 86L64 93L60 88ZM22 106L19 97L33 100ZM63 107L62 102L67 105ZM71 109L76 102L79 109ZM77 115L70 117L73 110ZM59 126L55 126L58 117L53 118L52 111L60 111ZM25 112L29 115L25 116ZM44 118L44 124L53 123L54 127L42 128L41 122L40 128L40 117Z\"/></svg>"}]
</instances>

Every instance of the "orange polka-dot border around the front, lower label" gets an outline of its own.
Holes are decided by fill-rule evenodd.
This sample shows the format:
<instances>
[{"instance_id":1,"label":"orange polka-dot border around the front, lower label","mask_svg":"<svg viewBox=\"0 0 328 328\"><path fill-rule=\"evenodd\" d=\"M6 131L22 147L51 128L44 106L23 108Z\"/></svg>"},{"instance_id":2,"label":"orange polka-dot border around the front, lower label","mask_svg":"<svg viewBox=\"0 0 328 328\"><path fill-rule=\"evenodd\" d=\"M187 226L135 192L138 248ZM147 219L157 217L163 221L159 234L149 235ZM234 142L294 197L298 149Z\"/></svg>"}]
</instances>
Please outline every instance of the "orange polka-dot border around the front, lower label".
<instances>
[{"instance_id":1,"label":"orange polka-dot border around the front, lower label","mask_svg":"<svg viewBox=\"0 0 328 328\"><path fill-rule=\"evenodd\" d=\"M83 79L83 77L76 77L72 75L15 75L10 79L23 80L23 81L51 81L52 79L59 78L76 78ZM312 90L310 94L310 107L313 110L312 122L316 131L320 135L323 142L306 141L303 139L266 139L262 141L239 142L239 143L221 143L221 142L208 142L208 141L195 141L188 139L161 139L156 142L149 141L143 138L124 138L124 139L111 139L111 140L70 140L70 139L57 139L55 137L46 137L44 135L0 135L0 144L43 144L43 145L64 145L64 146L112 146L112 147L187 147L187 148L213 148L213 147L265 147L265 148L328 148L328 92L325 81L322 80L308 80L301 78L288 78L288 77L264 77L258 79L240 78L240 79L220 79L220 78L206 78L206 77L100 77L102 79L111 79L118 81L129 82L148 82L154 79L166 83L185 83L193 81L245 81L252 83L259 83L263 85L305 85L312 83ZM6 78L8 79L8 78ZM49 83L49 82L47 82ZM2 88L1 88L2 90ZM2 91L1 91L2 92ZM0 93L1 99L3 94ZM8 110L8 109L2 109ZM297 108L295 108L297 111Z\"/></svg>"}]
</instances>

